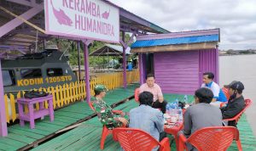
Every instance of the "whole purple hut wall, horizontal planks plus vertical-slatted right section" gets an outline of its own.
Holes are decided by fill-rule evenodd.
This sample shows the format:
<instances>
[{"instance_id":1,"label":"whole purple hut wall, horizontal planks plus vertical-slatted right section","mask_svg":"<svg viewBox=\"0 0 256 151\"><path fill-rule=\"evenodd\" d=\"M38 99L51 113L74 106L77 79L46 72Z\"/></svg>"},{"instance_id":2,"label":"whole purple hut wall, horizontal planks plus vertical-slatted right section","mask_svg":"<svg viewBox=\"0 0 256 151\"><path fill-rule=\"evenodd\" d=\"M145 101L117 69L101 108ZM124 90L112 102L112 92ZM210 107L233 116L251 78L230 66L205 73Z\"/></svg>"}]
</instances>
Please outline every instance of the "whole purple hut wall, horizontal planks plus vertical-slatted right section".
<instances>
[{"instance_id":1,"label":"whole purple hut wall, horizontal planks plus vertical-slatted right section","mask_svg":"<svg viewBox=\"0 0 256 151\"><path fill-rule=\"evenodd\" d=\"M165 93L194 94L201 87L202 73L217 75L218 51L195 50L154 53L154 76Z\"/></svg>"}]
</instances>

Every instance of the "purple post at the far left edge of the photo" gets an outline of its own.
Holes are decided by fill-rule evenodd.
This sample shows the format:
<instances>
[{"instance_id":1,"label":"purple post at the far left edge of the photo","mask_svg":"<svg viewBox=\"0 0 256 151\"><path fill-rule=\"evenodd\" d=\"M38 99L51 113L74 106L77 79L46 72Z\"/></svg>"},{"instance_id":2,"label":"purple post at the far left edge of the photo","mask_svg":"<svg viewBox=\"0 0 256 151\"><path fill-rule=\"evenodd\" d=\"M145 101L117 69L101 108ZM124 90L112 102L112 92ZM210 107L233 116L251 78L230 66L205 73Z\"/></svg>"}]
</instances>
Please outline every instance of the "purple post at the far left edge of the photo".
<instances>
[{"instance_id":1,"label":"purple post at the far left edge of the photo","mask_svg":"<svg viewBox=\"0 0 256 151\"><path fill-rule=\"evenodd\" d=\"M3 76L2 67L0 59L0 136L6 137L8 135L6 115L5 115L5 105L4 105L4 94L3 94Z\"/></svg>"}]
</instances>

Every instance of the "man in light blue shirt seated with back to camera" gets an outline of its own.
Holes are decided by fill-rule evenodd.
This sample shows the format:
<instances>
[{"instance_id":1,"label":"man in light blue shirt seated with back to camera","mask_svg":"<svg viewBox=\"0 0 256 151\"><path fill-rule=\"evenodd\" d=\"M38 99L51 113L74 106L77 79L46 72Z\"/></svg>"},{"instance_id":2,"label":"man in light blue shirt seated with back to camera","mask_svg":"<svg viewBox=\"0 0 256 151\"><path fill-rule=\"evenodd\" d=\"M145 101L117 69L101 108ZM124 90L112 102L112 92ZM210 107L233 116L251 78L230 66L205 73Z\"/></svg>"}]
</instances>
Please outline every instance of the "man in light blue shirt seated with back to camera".
<instances>
[{"instance_id":1,"label":"man in light blue shirt seated with back to camera","mask_svg":"<svg viewBox=\"0 0 256 151\"><path fill-rule=\"evenodd\" d=\"M140 105L137 108L130 111L129 127L147 131L152 137L160 141L166 136L164 132L164 116L159 109L151 107L153 94L151 92L140 93L139 103Z\"/></svg>"}]
</instances>

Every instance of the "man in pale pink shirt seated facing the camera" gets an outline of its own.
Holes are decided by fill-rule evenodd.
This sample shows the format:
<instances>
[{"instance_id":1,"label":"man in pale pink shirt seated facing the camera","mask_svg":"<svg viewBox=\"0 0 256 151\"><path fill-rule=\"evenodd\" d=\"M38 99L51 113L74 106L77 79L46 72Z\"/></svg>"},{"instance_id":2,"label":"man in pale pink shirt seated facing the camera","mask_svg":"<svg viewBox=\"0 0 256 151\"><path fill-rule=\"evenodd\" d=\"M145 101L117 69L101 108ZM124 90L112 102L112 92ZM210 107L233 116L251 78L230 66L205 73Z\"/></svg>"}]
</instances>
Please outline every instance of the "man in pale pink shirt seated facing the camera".
<instances>
[{"instance_id":1,"label":"man in pale pink shirt seated facing the camera","mask_svg":"<svg viewBox=\"0 0 256 151\"><path fill-rule=\"evenodd\" d=\"M148 74L146 83L140 87L141 92L151 92L154 95L154 103L152 105L155 109L161 109L163 113L166 113L166 104L164 100L163 93L158 84L154 83L154 75Z\"/></svg>"}]
</instances>

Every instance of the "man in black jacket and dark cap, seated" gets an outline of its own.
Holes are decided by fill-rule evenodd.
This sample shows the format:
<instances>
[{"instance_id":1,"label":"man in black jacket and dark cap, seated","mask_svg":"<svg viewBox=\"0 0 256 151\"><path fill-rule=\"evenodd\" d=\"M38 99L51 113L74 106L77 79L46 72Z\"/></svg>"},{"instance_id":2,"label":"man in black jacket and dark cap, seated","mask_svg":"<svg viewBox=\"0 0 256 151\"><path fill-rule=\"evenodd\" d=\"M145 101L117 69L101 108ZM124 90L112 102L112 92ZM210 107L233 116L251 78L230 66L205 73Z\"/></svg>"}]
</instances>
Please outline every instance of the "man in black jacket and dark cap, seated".
<instances>
[{"instance_id":1,"label":"man in black jacket and dark cap, seated","mask_svg":"<svg viewBox=\"0 0 256 151\"><path fill-rule=\"evenodd\" d=\"M244 86L241 81L230 83L228 87L230 99L228 104L224 108L221 108L223 119L232 118L245 108L245 101L241 94ZM229 121L228 126L236 126L236 120Z\"/></svg>"}]
</instances>

